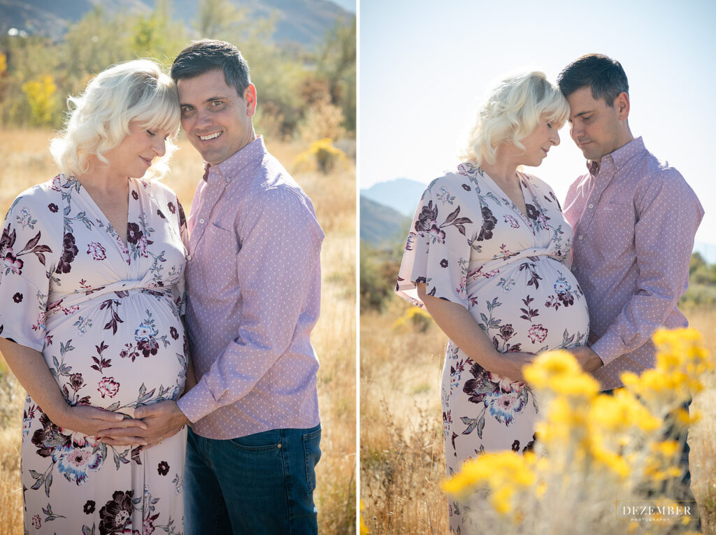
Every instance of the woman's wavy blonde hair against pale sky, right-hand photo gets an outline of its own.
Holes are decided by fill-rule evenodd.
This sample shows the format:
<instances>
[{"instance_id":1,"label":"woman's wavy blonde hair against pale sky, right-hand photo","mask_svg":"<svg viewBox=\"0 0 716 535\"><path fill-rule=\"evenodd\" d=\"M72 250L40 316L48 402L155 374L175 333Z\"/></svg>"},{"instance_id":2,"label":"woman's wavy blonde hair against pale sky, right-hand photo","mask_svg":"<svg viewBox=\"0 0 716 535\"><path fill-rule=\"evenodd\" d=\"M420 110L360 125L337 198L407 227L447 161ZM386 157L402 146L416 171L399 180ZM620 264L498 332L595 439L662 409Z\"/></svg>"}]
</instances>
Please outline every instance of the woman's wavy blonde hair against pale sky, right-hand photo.
<instances>
[{"instance_id":1,"label":"woman's wavy blonde hair against pale sky, right-hand photo","mask_svg":"<svg viewBox=\"0 0 716 535\"><path fill-rule=\"evenodd\" d=\"M543 72L533 71L503 79L490 93L460 155L478 165L495 163L498 145L520 143L541 120L561 128L569 118L569 104Z\"/></svg>"}]
</instances>

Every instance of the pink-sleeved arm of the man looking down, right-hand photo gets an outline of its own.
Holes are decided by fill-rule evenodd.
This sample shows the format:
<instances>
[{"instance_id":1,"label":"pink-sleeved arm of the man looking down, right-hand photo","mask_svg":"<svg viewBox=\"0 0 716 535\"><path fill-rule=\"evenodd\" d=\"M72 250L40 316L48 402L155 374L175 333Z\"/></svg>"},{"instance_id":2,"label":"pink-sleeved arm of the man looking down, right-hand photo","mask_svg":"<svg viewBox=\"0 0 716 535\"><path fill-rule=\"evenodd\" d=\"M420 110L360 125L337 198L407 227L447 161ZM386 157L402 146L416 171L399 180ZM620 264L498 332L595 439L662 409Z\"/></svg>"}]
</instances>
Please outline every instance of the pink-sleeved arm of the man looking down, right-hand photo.
<instances>
[{"instance_id":1,"label":"pink-sleeved arm of the man looking down, right-hand photo","mask_svg":"<svg viewBox=\"0 0 716 535\"><path fill-rule=\"evenodd\" d=\"M637 194L637 210L637 293L591 344L604 365L645 344L676 306L686 288L694 236L704 213L675 169L664 170Z\"/></svg>"}]
</instances>

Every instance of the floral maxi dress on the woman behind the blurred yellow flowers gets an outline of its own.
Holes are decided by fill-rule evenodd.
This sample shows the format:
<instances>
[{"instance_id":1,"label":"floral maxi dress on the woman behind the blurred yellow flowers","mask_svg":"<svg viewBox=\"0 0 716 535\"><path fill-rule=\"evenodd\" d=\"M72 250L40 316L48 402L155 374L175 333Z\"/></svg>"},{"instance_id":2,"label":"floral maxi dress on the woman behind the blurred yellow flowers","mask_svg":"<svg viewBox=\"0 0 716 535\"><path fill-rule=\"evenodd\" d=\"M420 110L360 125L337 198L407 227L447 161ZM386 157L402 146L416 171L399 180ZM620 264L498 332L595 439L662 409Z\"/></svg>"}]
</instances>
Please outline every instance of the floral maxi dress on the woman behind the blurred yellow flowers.
<instances>
[{"instance_id":1,"label":"floral maxi dress on the woman behind the blurred yellow flowers","mask_svg":"<svg viewBox=\"0 0 716 535\"><path fill-rule=\"evenodd\" d=\"M569 271L572 229L551 188L519 176L526 214L471 163L433 180L415 213L396 291L422 307L416 284L425 283L427 294L468 309L501 353L583 345L589 316ZM531 389L483 369L453 342L441 398L448 476L486 451L531 449L539 411ZM463 509L450 501L456 533L465 529Z\"/></svg>"}]
</instances>

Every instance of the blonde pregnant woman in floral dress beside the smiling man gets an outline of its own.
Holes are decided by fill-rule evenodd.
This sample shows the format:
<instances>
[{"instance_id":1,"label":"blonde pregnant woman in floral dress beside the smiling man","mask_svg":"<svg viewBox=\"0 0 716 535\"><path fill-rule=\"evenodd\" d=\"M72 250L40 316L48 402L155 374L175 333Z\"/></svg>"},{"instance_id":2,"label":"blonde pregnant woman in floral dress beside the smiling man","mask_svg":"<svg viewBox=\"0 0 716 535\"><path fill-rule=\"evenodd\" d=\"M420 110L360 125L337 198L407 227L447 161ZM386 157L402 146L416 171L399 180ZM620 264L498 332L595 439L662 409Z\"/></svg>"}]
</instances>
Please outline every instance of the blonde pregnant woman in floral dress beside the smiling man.
<instances>
[{"instance_id":1,"label":"blonde pregnant woman in floral dress beside the smiling man","mask_svg":"<svg viewBox=\"0 0 716 535\"><path fill-rule=\"evenodd\" d=\"M0 241L0 351L28 392L24 529L180 533L185 431L105 433L146 428L134 408L185 387L185 221L156 180L175 149L177 90L137 60L69 101L51 146L61 173L15 199Z\"/></svg>"}]
</instances>

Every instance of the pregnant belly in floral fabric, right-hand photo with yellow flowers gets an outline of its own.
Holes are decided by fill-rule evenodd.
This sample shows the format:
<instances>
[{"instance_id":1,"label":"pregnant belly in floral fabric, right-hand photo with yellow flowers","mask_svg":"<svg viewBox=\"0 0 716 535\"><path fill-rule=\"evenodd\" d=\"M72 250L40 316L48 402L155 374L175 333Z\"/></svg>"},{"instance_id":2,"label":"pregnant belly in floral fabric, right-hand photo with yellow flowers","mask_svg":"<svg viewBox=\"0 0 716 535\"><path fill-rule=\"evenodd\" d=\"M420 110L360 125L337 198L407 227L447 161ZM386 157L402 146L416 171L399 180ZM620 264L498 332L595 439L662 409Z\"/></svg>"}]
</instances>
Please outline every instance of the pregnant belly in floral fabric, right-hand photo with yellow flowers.
<instances>
[{"instance_id":1,"label":"pregnant belly in floral fabric, right-hand photo with yellow flowers","mask_svg":"<svg viewBox=\"0 0 716 535\"><path fill-rule=\"evenodd\" d=\"M511 264L468 286L470 313L500 352L586 344L589 312L574 275L549 257Z\"/></svg>"}]
</instances>

